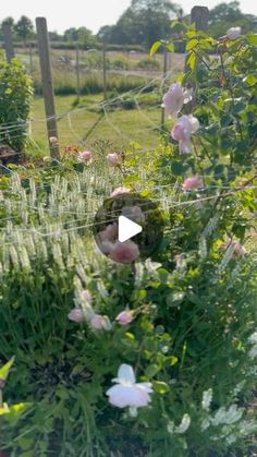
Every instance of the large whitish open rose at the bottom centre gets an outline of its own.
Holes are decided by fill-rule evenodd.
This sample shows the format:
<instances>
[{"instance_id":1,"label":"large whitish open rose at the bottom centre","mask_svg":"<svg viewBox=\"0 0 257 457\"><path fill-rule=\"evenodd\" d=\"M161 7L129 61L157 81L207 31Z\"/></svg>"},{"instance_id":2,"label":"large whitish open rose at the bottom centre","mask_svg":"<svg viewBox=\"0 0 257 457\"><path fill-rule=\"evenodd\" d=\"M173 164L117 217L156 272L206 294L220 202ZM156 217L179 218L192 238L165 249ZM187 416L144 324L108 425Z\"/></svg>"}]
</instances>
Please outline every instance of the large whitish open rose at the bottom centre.
<instances>
[{"instance_id":1,"label":"large whitish open rose at the bottom centre","mask_svg":"<svg viewBox=\"0 0 257 457\"><path fill-rule=\"evenodd\" d=\"M136 383L133 368L123 363L118 371L118 377L112 380L114 386L107 390L109 401L118 408L130 407L136 416L136 409L150 402L151 383Z\"/></svg>"}]
</instances>

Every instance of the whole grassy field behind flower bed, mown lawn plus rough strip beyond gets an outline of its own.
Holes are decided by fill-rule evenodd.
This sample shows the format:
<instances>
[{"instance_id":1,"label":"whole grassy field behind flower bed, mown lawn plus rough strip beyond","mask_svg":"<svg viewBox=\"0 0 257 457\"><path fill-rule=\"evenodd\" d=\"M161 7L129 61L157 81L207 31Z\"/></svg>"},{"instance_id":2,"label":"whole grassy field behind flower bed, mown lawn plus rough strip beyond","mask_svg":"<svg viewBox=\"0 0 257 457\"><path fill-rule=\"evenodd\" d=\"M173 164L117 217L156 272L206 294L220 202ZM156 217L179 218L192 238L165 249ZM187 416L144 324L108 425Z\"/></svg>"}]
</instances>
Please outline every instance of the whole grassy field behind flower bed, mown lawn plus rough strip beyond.
<instances>
[{"instance_id":1,"label":"whole grassy field behind flower bed, mown lawn plus rough strip beyond","mask_svg":"<svg viewBox=\"0 0 257 457\"><path fill-rule=\"evenodd\" d=\"M38 56L32 57L30 68L28 52L25 49L21 53L19 49L17 57L32 74L36 92L40 92ZM96 140L109 141L114 148L124 148L131 142L139 143L142 147L157 146L161 127L163 57L108 52L108 86L103 110L100 108L103 101L101 52L81 51L79 87L82 93L88 95L82 94L79 99L75 58L75 51L51 52L61 148L74 143L86 145ZM183 55L169 53L166 86L183 70ZM44 100L38 95L35 95L30 118L29 137L39 145L42 154L42 151L47 151L47 131Z\"/></svg>"}]
</instances>

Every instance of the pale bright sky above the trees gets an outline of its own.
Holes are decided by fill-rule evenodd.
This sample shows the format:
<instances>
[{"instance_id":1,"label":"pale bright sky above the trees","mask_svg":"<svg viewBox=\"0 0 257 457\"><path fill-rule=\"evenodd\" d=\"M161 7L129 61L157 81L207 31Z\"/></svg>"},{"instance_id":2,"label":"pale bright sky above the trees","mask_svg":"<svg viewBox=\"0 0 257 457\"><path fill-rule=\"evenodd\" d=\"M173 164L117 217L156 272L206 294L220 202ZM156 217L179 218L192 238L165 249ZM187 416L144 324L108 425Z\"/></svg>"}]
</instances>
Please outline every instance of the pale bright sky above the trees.
<instances>
[{"instance_id":1,"label":"pale bright sky above the trees","mask_svg":"<svg viewBox=\"0 0 257 457\"><path fill-rule=\"evenodd\" d=\"M222 0L176 0L188 13L194 4L213 8ZM242 0L241 10L244 13L257 15L256 0ZM102 25L117 22L122 12L131 4L131 0L8 0L1 2L0 21L7 16L15 20L26 15L32 20L45 16L48 29L63 33L70 27L86 26L97 33Z\"/></svg>"}]
</instances>

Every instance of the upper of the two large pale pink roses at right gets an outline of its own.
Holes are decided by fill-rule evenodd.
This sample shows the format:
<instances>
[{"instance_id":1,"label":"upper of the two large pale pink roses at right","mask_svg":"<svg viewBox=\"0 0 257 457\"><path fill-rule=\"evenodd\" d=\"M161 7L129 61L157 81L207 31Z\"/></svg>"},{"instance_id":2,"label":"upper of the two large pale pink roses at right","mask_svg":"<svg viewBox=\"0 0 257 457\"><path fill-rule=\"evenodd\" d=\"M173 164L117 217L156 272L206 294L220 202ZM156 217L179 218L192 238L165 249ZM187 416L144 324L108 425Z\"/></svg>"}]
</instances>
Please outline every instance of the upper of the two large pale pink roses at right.
<instances>
[{"instance_id":1,"label":"upper of the two large pale pink roses at right","mask_svg":"<svg viewBox=\"0 0 257 457\"><path fill-rule=\"evenodd\" d=\"M192 89L183 88L180 83L171 84L162 98L162 108L167 113L176 117L184 104L192 99Z\"/></svg>"}]
</instances>

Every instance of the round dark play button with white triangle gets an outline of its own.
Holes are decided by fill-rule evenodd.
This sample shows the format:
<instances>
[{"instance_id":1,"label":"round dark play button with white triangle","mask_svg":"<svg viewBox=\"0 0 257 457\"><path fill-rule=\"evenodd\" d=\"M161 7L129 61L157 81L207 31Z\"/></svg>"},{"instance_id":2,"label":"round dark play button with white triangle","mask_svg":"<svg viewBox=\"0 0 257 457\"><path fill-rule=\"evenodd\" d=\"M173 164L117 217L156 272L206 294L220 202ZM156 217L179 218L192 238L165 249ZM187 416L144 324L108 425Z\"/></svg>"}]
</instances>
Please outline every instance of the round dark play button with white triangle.
<instances>
[{"instance_id":1,"label":"round dark play button with white triangle","mask_svg":"<svg viewBox=\"0 0 257 457\"><path fill-rule=\"evenodd\" d=\"M132 263L150 257L160 245L162 232L158 203L137 193L105 200L95 216L96 243L113 262Z\"/></svg>"}]
</instances>

